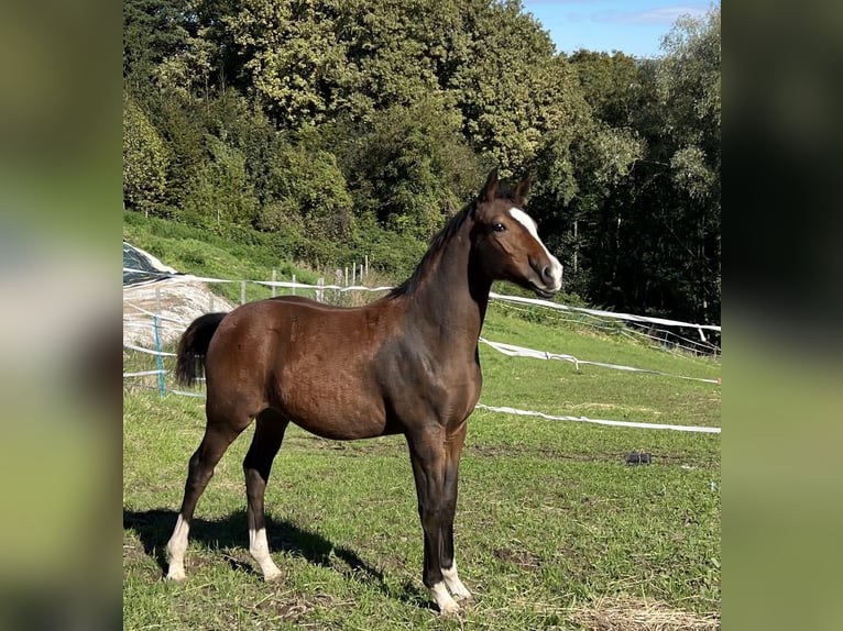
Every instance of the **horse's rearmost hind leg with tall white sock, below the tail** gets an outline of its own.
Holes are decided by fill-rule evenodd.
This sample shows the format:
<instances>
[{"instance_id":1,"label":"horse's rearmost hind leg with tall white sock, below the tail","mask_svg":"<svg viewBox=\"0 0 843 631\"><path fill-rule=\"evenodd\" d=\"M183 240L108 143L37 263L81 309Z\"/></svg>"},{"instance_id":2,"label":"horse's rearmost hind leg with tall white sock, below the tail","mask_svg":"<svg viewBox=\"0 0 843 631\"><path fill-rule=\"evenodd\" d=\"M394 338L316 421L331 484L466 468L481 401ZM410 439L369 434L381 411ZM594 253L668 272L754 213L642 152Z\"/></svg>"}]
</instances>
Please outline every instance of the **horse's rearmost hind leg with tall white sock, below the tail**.
<instances>
[{"instance_id":1,"label":"horse's rearmost hind leg with tall white sock, below the tail","mask_svg":"<svg viewBox=\"0 0 843 631\"><path fill-rule=\"evenodd\" d=\"M185 496L182 500L182 509L178 511L178 520L173 535L167 542L167 578L183 580L185 578L185 552L187 551L187 534L190 531L190 522L196 510L196 502L208 486L214 476L214 468L226 453L226 450L240 435L240 432L249 425L244 423L232 424L228 422L212 422L208 418L202 442L196 450L188 464L187 481L185 483Z\"/></svg>"}]
</instances>

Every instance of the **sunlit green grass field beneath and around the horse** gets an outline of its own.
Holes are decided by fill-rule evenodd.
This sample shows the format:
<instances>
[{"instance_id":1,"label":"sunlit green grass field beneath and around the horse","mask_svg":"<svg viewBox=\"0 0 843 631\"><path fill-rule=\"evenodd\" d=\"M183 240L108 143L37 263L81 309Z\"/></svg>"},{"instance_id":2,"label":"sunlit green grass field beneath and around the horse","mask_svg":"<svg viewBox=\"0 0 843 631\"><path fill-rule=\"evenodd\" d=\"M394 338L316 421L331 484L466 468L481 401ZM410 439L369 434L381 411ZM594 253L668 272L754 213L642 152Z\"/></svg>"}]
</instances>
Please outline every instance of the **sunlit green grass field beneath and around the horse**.
<instances>
[{"instance_id":1,"label":"sunlit green grass field beneath and around the horse","mask_svg":"<svg viewBox=\"0 0 843 631\"><path fill-rule=\"evenodd\" d=\"M720 375L719 361L529 323L494 305L483 335L581 359ZM720 425L712 384L591 366L577 373L569 363L480 352L481 402L490 406ZM187 580L162 580L204 422L200 399L124 392L125 629L719 627L719 434L477 410L456 522L460 575L477 602L440 619L420 579L421 528L401 436L339 443L288 430L266 491L270 546L284 579L265 584L248 552L247 430L199 501ZM653 464L626 466L637 450Z\"/></svg>"}]
</instances>

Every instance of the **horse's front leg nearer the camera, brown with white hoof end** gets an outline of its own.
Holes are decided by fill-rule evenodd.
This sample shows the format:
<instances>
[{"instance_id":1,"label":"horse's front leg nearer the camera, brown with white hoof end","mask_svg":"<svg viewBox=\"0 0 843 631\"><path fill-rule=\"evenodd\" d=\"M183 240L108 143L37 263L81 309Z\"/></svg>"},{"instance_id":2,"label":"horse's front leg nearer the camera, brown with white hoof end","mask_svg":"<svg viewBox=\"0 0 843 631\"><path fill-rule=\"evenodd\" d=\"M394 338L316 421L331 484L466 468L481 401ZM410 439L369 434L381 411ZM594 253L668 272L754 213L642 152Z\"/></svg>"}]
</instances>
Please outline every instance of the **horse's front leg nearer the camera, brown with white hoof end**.
<instances>
[{"instance_id":1,"label":"horse's front leg nearer the camera, brown with white hoof end","mask_svg":"<svg viewBox=\"0 0 843 631\"><path fill-rule=\"evenodd\" d=\"M413 434L408 433L407 444L416 480L418 516L425 533L425 566L421 579L442 616L457 613L460 606L448 593L441 566L445 543L442 533L447 514L445 431L435 425Z\"/></svg>"}]
</instances>

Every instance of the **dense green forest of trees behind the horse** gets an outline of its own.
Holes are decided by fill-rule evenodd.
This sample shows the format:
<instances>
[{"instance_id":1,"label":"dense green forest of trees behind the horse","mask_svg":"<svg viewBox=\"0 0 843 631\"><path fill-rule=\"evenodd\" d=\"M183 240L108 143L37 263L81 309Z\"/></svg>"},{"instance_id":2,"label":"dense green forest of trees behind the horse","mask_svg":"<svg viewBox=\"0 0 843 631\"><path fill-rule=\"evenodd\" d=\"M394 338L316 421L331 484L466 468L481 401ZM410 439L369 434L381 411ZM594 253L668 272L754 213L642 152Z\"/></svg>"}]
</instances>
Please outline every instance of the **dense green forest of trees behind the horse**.
<instances>
[{"instance_id":1,"label":"dense green forest of trees behind the horse","mask_svg":"<svg viewBox=\"0 0 843 631\"><path fill-rule=\"evenodd\" d=\"M519 0L124 0L123 204L407 274L499 166L565 288L720 323L721 11L558 54Z\"/></svg>"}]
</instances>

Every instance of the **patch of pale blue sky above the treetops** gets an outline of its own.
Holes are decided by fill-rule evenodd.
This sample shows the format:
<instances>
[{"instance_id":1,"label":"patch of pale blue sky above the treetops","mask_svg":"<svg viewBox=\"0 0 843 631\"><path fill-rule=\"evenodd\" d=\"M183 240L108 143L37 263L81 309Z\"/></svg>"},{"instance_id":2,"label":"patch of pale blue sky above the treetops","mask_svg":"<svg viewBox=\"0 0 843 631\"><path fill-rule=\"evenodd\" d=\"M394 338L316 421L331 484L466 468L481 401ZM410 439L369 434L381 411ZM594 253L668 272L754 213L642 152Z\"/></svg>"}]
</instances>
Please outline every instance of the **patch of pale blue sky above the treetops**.
<instances>
[{"instance_id":1,"label":"patch of pale blue sky above the treetops","mask_svg":"<svg viewBox=\"0 0 843 631\"><path fill-rule=\"evenodd\" d=\"M634 57L661 54L664 37L682 14L702 15L711 2L682 0L522 0L556 44L557 53L621 51Z\"/></svg>"}]
</instances>

